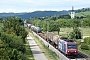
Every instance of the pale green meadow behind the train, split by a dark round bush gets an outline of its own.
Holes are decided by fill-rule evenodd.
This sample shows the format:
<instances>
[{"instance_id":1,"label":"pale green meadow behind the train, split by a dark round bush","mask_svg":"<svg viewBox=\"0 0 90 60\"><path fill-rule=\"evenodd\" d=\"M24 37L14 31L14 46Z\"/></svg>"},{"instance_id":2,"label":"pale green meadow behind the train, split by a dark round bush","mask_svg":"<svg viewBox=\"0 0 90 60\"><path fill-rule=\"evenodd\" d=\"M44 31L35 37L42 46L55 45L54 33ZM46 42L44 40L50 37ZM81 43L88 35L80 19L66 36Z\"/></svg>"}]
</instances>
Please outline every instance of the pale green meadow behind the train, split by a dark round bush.
<instances>
[{"instance_id":1,"label":"pale green meadow behind the train, split by a dark round bush","mask_svg":"<svg viewBox=\"0 0 90 60\"><path fill-rule=\"evenodd\" d=\"M83 36L90 36L90 27L80 28ZM60 28L59 35L67 37L67 35L73 31L73 28ZM58 34L57 31L54 31L55 34Z\"/></svg>"}]
</instances>

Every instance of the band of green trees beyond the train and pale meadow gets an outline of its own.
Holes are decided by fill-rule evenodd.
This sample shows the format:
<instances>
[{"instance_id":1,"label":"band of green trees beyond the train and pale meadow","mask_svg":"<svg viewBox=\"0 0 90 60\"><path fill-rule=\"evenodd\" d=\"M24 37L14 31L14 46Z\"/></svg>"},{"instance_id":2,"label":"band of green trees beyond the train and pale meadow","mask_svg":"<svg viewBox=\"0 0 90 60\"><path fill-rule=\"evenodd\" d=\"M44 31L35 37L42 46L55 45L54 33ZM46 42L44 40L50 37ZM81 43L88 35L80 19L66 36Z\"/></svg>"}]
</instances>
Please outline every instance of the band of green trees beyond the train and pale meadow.
<instances>
[{"instance_id":1,"label":"band of green trees beyond the train and pale meadow","mask_svg":"<svg viewBox=\"0 0 90 60\"><path fill-rule=\"evenodd\" d=\"M53 19L53 17L48 17L44 19L39 18L31 18L27 20L28 23L31 23L35 26L39 26L46 31L47 22L49 22L49 30L50 31L57 31L58 26L60 27L90 27L90 18L83 18L83 19Z\"/></svg>"}]
</instances>

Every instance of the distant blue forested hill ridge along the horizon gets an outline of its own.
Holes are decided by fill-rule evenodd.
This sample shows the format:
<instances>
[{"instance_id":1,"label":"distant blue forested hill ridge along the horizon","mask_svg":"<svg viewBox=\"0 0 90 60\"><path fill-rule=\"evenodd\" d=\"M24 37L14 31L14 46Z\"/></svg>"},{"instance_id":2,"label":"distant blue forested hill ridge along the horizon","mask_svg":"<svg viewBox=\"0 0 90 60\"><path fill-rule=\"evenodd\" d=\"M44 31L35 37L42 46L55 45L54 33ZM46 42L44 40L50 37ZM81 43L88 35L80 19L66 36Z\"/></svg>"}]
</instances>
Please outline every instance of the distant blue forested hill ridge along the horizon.
<instances>
[{"instance_id":1,"label":"distant blue forested hill ridge along the horizon","mask_svg":"<svg viewBox=\"0 0 90 60\"><path fill-rule=\"evenodd\" d=\"M31 13L0 13L0 17L9 17L9 16L18 16L21 18L30 18L30 17L46 17L46 16L54 16L54 15L61 15L61 14L68 14L69 11L35 11Z\"/></svg>"}]
</instances>

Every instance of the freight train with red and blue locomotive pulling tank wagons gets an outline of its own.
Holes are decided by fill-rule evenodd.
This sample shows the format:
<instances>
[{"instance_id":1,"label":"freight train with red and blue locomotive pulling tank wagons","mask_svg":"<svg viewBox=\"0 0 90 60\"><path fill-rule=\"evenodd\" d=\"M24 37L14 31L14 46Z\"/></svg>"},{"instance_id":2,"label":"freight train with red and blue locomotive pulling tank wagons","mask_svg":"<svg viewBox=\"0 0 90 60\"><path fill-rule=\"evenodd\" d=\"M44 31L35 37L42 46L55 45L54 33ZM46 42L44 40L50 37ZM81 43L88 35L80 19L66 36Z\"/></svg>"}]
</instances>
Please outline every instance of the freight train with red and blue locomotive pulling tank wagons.
<instances>
[{"instance_id":1,"label":"freight train with red and blue locomotive pulling tank wagons","mask_svg":"<svg viewBox=\"0 0 90 60\"><path fill-rule=\"evenodd\" d=\"M46 34L42 33L42 30L39 27L35 27L33 25L30 25L29 27L65 55L77 55L78 49L75 41L56 35L53 32L47 32Z\"/></svg>"}]
</instances>

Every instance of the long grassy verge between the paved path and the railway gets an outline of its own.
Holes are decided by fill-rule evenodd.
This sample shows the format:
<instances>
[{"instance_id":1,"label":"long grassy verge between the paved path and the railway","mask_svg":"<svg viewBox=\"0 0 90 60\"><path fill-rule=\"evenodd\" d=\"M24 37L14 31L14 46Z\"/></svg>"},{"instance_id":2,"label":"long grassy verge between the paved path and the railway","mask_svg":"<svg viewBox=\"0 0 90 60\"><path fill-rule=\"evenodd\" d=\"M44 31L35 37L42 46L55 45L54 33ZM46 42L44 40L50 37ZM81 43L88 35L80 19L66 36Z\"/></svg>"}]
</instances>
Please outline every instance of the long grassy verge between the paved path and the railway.
<instances>
[{"instance_id":1,"label":"long grassy verge between the paved path and the railway","mask_svg":"<svg viewBox=\"0 0 90 60\"><path fill-rule=\"evenodd\" d=\"M48 60L59 60L55 52L51 51L47 46L45 46L44 43L38 39L38 37L34 36L32 32L30 32L29 34L34 38L35 42L38 44L38 46L40 47L42 52L45 54Z\"/></svg>"}]
</instances>

